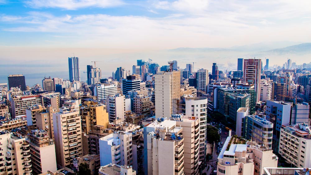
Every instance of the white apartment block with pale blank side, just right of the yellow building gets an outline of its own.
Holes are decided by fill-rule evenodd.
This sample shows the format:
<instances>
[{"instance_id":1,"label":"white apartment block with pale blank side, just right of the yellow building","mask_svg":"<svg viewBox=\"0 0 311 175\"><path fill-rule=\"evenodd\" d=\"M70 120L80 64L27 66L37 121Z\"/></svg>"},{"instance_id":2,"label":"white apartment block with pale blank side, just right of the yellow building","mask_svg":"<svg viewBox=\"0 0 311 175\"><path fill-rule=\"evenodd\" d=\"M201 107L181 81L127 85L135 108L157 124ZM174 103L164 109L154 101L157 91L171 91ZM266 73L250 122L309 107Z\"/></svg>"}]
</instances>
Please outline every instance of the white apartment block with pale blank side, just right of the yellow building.
<instances>
[{"instance_id":1,"label":"white apartment block with pale blank side, just right of the yellow building","mask_svg":"<svg viewBox=\"0 0 311 175\"><path fill-rule=\"evenodd\" d=\"M115 94L114 96L108 96L106 98L106 107L109 113L109 122L113 122L115 119L121 119L125 121L125 96L121 94Z\"/></svg>"}]
</instances>

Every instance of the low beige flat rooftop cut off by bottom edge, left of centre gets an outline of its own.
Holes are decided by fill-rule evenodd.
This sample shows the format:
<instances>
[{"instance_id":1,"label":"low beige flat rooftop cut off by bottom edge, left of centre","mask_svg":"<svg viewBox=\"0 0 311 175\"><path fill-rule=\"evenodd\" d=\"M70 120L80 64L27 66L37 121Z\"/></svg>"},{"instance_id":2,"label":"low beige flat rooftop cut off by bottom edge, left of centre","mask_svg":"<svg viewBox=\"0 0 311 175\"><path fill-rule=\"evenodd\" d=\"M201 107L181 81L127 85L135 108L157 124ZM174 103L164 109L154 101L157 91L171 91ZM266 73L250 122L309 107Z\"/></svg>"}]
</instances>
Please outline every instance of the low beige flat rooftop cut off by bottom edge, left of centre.
<instances>
[{"instance_id":1,"label":"low beige flat rooftop cut off by bottom edge, left of centre","mask_svg":"<svg viewBox=\"0 0 311 175\"><path fill-rule=\"evenodd\" d=\"M136 175L136 171L132 169L132 166L118 164L101 166L98 173L100 175Z\"/></svg>"}]
</instances>

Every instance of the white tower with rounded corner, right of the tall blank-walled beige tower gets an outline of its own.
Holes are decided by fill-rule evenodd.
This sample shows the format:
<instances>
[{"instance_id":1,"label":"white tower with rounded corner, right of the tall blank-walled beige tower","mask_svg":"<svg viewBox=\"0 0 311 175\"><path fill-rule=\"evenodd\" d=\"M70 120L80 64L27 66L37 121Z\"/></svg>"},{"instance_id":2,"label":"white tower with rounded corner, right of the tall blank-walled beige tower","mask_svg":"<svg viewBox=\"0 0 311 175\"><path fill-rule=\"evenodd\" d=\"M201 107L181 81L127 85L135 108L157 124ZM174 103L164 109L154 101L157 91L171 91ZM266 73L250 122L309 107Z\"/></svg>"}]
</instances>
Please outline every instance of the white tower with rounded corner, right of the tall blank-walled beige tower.
<instances>
[{"instance_id":1,"label":"white tower with rounded corner, right of the tall blank-walled beige tower","mask_svg":"<svg viewBox=\"0 0 311 175\"><path fill-rule=\"evenodd\" d=\"M178 99L173 99L173 114L183 114L199 118L199 161L204 161L206 159L207 98L184 95Z\"/></svg>"}]
</instances>

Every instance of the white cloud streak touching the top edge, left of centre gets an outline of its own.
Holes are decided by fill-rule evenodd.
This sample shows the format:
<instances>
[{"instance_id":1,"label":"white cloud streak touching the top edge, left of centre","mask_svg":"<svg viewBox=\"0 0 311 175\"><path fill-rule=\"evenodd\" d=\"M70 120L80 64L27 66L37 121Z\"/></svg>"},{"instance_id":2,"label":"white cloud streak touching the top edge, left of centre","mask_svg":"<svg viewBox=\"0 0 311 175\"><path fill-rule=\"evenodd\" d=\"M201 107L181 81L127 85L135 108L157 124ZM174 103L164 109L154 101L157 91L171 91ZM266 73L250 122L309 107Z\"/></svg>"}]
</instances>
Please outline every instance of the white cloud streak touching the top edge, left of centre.
<instances>
[{"instance_id":1,"label":"white cloud streak touching the top edge, left of centre","mask_svg":"<svg viewBox=\"0 0 311 175\"><path fill-rule=\"evenodd\" d=\"M121 0L30 0L26 4L33 8L63 8L77 10L86 7L115 7L123 5Z\"/></svg>"}]
</instances>

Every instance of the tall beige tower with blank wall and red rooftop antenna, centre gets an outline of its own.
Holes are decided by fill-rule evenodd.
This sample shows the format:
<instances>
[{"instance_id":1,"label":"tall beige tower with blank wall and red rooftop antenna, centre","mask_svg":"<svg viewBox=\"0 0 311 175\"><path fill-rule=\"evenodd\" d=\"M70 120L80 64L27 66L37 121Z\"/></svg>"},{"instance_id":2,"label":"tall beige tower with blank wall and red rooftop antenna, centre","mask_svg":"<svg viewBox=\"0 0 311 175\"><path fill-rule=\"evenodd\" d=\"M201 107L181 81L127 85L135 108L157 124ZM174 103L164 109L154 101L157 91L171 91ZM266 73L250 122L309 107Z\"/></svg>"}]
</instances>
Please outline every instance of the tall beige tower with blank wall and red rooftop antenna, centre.
<instances>
[{"instance_id":1,"label":"tall beige tower with blank wall and red rooftop antenna, centre","mask_svg":"<svg viewBox=\"0 0 311 175\"><path fill-rule=\"evenodd\" d=\"M180 72L158 72L155 75L156 118L170 116L172 99L180 97Z\"/></svg>"}]
</instances>

